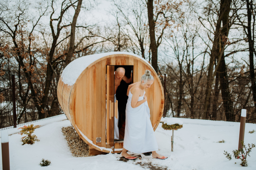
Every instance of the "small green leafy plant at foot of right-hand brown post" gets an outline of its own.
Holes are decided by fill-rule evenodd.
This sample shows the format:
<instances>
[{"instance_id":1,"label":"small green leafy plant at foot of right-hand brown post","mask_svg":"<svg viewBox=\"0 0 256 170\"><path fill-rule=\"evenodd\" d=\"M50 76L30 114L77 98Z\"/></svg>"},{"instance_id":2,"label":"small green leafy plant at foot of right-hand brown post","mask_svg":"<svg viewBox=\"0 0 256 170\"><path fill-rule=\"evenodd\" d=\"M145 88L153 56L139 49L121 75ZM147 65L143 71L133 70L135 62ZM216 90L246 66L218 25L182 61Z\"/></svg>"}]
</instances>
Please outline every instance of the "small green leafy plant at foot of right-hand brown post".
<instances>
[{"instance_id":1,"label":"small green leafy plant at foot of right-hand brown post","mask_svg":"<svg viewBox=\"0 0 256 170\"><path fill-rule=\"evenodd\" d=\"M242 149L239 149L239 150L233 150L233 156L235 157L235 159L241 159L241 166L243 167L247 167L248 164L247 164L247 161L246 161L246 158L247 156L250 156L249 153L250 151L252 150L253 147L255 147L255 144L248 144L248 149L245 147L245 144L243 141L241 141L241 144L243 146ZM227 151L224 150L224 155L226 155L226 158L231 160L231 155L230 153L227 153Z\"/></svg>"}]
</instances>

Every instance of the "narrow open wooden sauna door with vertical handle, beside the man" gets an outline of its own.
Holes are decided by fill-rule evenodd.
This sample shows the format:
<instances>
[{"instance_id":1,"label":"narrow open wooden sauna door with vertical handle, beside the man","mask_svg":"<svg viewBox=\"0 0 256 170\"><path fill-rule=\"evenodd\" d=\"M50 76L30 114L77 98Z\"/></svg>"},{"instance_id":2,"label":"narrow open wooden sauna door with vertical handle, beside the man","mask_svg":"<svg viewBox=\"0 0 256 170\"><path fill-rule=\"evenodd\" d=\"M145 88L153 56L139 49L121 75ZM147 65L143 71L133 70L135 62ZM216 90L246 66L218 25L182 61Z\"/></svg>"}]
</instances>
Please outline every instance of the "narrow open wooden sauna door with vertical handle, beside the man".
<instances>
[{"instance_id":1,"label":"narrow open wooden sauna door with vertical handle, beside the man","mask_svg":"<svg viewBox=\"0 0 256 170\"><path fill-rule=\"evenodd\" d=\"M107 145L114 151L115 66L107 65ZM108 146L109 147L109 146Z\"/></svg>"}]
</instances>

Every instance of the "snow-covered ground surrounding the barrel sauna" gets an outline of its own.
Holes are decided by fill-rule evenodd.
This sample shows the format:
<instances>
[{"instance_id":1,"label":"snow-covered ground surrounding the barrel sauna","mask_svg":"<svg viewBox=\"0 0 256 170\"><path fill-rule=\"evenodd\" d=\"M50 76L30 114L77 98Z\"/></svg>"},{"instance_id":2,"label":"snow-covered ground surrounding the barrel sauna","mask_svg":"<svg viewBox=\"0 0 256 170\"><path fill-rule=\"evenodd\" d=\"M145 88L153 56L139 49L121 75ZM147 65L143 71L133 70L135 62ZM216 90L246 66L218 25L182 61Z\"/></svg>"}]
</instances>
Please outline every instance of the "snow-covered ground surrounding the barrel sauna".
<instances>
[{"instance_id":1,"label":"snow-covered ground surrounding the barrel sauna","mask_svg":"<svg viewBox=\"0 0 256 170\"><path fill-rule=\"evenodd\" d=\"M224 156L224 150L232 153L237 149L239 140L238 122L222 122L209 120L181 119L183 128L174 132L174 152L171 152L172 131L163 130L160 125L155 131L161 155L168 156L166 160L153 159L142 155L143 159L136 161L118 161L120 154L107 154L93 157L73 157L67 142L62 135L61 128L70 126L66 117L59 116L53 119L35 122L34 125L43 125L35 130L40 142L21 145L21 136L17 128L9 129L9 150L11 170L142 170L136 163L156 164L168 167L170 170L255 170L256 148L253 148L248 157L248 167L241 167L240 160L229 161ZM167 118L169 119L169 118ZM162 119L163 121L164 119ZM245 143L256 144L256 124L245 125ZM224 140L225 143L217 143ZM0 154L0 156L2 156ZM48 159L51 165L39 166L41 159ZM0 158L0 168L2 168ZM236 162L236 164L235 164Z\"/></svg>"}]
</instances>

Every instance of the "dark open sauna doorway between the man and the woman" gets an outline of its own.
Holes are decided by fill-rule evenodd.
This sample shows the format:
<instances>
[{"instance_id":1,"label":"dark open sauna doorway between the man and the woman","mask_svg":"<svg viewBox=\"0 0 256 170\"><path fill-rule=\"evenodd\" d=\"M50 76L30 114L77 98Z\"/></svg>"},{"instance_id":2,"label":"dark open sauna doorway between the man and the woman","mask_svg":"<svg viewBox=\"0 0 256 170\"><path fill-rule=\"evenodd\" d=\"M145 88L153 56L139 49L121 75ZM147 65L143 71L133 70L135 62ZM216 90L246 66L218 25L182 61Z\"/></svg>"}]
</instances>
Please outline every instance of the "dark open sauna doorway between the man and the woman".
<instances>
[{"instance_id":1,"label":"dark open sauna doorway between the man and the woman","mask_svg":"<svg viewBox=\"0 0 256 170\"><path fill-rule=\"evenodd\" d=\"M119 67L125 68L125 76L130 79L133 65L115 65L115 70ZM133 76L132 76L133 77ZM122 142L125 137L125 109L127 104L127 89L130 84L133 83L133 78L131 78L130 83L126 83L125 81L121 81L120 85L116 89L116 100L118 100L118 128L119 128L119 141ZM117 140L115 140L117 141Z\"/></svg>"}]
</instances>

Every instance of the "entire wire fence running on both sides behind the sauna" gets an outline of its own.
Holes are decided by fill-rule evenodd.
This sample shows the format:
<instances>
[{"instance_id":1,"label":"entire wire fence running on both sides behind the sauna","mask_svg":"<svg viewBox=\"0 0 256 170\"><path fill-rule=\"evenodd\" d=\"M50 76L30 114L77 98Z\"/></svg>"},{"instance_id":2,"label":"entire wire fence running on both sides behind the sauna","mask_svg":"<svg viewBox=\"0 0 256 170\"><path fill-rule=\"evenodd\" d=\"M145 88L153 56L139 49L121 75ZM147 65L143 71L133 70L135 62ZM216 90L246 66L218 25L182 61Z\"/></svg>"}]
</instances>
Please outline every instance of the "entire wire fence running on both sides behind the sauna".
<instances>
[{"instance_id":1,"label":"entire wire fence running on both sides behind the sauna","mask_svg":"<svg viewBox=\"0 0 256 170\"><path fill-rule=\"evenodd\" d=\"M12 127L15 122L21 125L63 114L57 98L58 79L59 77L42 79L18 79L16 77L16 121L14 121L13 114L12 79L0 79L0 128ZM47 80L51 83L48 88L45 88ZM166 116L239 122L241 109L246 109L247 122L256 123L250 79L214 79L212 82L210 96L206 102L206 78L167 77ZM221 91L225 83L228 84L229 91L226 94L223 90ZM47 91L47 100L44 100L46 96L44 93Z\"/></svg>"}]
</instances>

